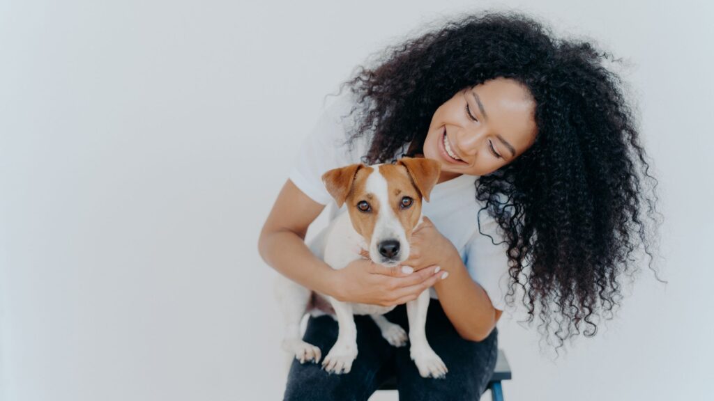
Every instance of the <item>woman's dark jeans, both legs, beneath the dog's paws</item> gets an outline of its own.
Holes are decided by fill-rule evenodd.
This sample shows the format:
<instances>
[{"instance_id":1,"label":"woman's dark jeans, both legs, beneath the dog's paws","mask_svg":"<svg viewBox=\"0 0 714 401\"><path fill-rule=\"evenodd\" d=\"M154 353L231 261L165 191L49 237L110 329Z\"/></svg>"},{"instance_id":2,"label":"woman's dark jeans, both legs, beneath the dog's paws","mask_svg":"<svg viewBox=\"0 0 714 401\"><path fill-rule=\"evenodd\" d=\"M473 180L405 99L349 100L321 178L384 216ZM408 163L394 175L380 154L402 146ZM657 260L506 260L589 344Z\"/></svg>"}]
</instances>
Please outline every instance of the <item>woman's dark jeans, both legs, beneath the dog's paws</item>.
<instances>
[{"instance_id":1,"label":"woman's dark jeans, both legs, beneath the dog's paws","mask_svg":"<svg viewBox=\"0 0 714 401\"><path fill-rule=\"evenodd\" d=\"M408 331L406 306L399 305L386 318ZM448 373L444 379L423 378L409 357L409 346L393 347L366 315L354 317L357 326L357 359L351 372L335 375L321 364L294 360L288 374L284 400L367 400L385 380L396 376L399 400L478 400L493 374L498 356L498 329L485 340L461 338L441 308L432 299L426 317L426 338ZM327 355L337 340L337 322L331 316L310 317L303 340Z\"/></svg>"}]
</instances>

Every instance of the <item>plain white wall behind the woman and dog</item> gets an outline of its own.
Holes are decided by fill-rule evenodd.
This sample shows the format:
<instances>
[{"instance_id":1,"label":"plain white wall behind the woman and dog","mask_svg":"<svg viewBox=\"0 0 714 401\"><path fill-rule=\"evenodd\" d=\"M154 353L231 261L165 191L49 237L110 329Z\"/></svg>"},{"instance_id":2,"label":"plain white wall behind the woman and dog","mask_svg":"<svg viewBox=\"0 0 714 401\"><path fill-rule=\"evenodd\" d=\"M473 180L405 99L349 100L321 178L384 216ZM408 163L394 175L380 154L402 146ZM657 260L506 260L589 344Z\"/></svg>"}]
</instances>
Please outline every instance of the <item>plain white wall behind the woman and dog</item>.
<instances>
[{"instance_id":1,"label":"plain white wall behind the woman and dog","mask_svg":"<svg viewBox=\"0 0 714 401\"><path fill-rule=\"evenodd\" d=\"M0 398L280 399L257 239L296 146L370 54L487 6L0 1ZM711 399L714 6L496 8L627 62L669 282L643 268L617 318L557 360L504 315L506 399Z\"/></svg>"}]
</instances>

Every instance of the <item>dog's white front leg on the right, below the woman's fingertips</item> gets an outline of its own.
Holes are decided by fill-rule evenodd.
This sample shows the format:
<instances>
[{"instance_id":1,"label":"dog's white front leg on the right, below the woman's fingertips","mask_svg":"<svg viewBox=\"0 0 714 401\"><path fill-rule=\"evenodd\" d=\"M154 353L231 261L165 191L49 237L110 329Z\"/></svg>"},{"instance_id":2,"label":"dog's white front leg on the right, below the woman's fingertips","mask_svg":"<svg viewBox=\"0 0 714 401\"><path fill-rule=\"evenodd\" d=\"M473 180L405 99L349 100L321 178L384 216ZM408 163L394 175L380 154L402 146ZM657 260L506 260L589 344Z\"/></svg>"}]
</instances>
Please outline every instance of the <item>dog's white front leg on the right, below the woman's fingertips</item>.
<instances>
[{"instance_id":1,"label":"dog's white front leg on the right, below the woman's fingertips","mask_svg":"<svg viewBox=\"0 0 714 401\"><path fill-rule=\"evenodd\" d=\"M406 303L409 319L409 353L421 377L444 377L448 370L426 341L426 311L429 308L429 290L424 290L419 298Z\"/></svg>"}]
</instances>

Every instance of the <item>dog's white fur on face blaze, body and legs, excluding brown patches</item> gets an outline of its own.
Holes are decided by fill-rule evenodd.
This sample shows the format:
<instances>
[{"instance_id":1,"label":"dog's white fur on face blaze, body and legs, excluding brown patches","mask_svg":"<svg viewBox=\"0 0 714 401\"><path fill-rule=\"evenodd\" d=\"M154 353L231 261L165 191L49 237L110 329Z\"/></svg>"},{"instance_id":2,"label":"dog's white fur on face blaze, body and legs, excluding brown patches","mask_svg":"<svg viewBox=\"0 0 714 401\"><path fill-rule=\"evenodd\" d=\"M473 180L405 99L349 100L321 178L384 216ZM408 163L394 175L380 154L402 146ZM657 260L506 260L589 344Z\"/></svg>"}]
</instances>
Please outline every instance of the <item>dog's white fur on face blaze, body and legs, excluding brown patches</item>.
<instances>
[{"instance_id":1,"label":"dog's white fur on face blaze, body and legs, excluding brown patches","mask_svg":"<svg viewBox=\"0 0 714 401\"><path fill-rule=\"evenodd\" d=\"M387 205L387 182L379 173L377 166L372 166L374 171L367 178L366 191L376 196L381 204ZM421 223L422 216L420 215L418 225ZM308 243L308 247L313 254L332 268L341 269L353 260L361 258L359 254L361 249L369 250L372 260L380 260L378 244L385 239L398 239L400 242L401 256L394 263L395 265L408 259L409 244L406 240L406 233L391 208L388 207L380 208L371 243L367 244L364 238L357 233L353 228L349 213L344 212L332 220L330 225L322 230L311 243ZM335 311L333 318L337 320L339 327L337 341L322 362L323 368L328 372L350 372L352 362L357 357L357 331L353 315L371 315L380 328L382 336L391 345L401 347L406 344L407 335L401 326L389 322L383 316L395 306L343 303L328 295L315 294L315 296L326 298ZM300 334L300 323L306 313L322 314L321 311L311 308L312 291L280 275L276 281L276 297L286 323L283 349L295 355L301 363L319 362L321 350L304 342ZM443 377L448 371L446 365L426 340L425 325L428 305L428 289L424 290L416 300L410 301L406 305L409 321L408 339L411 342L410 355L422 377Z\"/></svg>"}]
</instances>

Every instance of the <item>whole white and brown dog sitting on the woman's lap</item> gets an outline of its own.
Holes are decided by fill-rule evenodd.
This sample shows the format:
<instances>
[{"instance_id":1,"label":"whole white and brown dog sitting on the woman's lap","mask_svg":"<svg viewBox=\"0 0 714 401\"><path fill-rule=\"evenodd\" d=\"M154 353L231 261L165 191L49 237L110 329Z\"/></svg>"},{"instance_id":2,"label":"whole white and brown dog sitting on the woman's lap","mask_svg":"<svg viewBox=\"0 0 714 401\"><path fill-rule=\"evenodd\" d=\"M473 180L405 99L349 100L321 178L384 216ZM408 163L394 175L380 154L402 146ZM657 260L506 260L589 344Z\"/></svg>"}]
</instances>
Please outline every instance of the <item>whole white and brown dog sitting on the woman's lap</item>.
<instances>
[{"instance_id":1,"label":"whole white and brown dog sitting on the woman's lap","mask_svg":"<svg viewBox=\"0 0 714 401\"><path fill-rule=\"evenodd\" d=\"M426 158L402 158L396 164L366 166L353 164L328 171L322 176L338 207L347 204L347 213L338 215L308 244L312 252L334 269L344 268L369 252L374 263L396 266L409 257L409 238L422 222L421 198L438 180L440 165ZM371 315L383 337L393 346L406 344L404 330L384 316L394 306L343 303L328 295L313 293L282 275L276 295L286 319L283 349L300 362L320 360L320 349L301 340L299 326L306 313L320 315L316 303L332 306L339 326L337 341L322 362L325 370L348 373L357 357L357 331L353 315ZM443 377L447 369L426 340L426 312L429 291L406 304L411 342L411 359L422 377Z\"/></svg>"}]
</instances>

